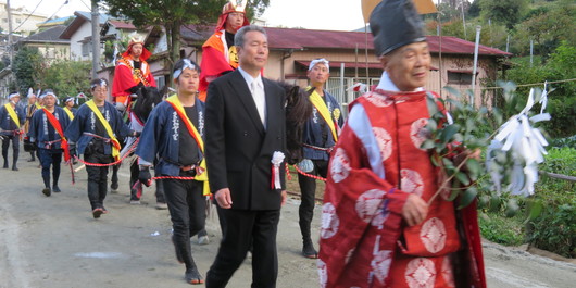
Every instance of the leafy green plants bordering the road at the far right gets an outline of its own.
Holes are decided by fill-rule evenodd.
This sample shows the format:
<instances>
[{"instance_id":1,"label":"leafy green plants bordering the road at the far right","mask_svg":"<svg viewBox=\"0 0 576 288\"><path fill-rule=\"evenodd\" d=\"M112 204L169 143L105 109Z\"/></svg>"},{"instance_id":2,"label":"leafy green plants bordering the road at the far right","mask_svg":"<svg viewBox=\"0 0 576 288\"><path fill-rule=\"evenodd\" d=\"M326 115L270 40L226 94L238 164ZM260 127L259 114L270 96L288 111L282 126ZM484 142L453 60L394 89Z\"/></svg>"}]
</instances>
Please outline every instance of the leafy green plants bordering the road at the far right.
<instances>
[{"instance_id":1,"label":"leafy green plants bordering the road at the far right","mask_svg":"<svg viewBox=\"0 0 576 288\"><path fill-rule=\"evenodd\" d=\"M552 148L548 153L539 167L541 172L576 177L575 148ZM487 187L480 190L483 237L506 246L529 242L539 249L576 258L576 183L542 175L535 185L535 195L527 199L496 196ZM514 213L513 208L522 213Z\"/></svg>"}]
</instances>

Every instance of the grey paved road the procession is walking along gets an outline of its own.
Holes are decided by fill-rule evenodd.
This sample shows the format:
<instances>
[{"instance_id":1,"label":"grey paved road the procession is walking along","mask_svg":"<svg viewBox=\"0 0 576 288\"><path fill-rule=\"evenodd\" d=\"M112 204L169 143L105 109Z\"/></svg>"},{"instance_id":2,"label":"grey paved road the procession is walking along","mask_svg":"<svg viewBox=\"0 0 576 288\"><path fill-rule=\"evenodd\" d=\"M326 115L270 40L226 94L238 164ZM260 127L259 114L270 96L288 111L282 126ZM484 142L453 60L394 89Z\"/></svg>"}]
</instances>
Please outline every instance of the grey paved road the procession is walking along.
<instances>
[{"instance_id":1,"label":"grey paved road the procession is walking along","mask_svg":"<svg viewBox=\"0 0 576 288\"><path fill-rule=\"evenodd\" d=\"M23 155L22 158L26 158ZM86 172L62 173L62 192L41 195L37 163L21 160L20 172L0 170L0 288L188 287L174 259L167 211L154 209L153 190L141 205L128 204L127 171L120 193L109 195L110 213L95 221L86 196ZM317 224L318 211L315 220ZM209 220L211 242L192 245L200 271L210 267L220 235ZM317 225L314 227L317 231ZM317 287L315 261L300 256L298 200L283 209L278 233L279 288ZM489 287L575 287L576 265L485 245ZM228 287L249 287L250 260Z\"/></svg>"}]
</instances>

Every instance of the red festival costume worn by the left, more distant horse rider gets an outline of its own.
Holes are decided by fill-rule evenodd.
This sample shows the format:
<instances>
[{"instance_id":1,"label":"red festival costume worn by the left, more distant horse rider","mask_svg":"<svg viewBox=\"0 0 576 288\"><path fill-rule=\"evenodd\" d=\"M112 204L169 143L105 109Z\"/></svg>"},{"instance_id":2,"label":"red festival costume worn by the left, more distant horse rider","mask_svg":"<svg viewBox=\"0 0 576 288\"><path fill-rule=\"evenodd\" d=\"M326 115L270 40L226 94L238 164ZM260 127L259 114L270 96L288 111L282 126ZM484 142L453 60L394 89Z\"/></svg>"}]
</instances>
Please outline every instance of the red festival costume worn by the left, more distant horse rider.
<instances>
[{"instance_id":1,"label":"red festival costume worn by the left, more distant horse rider","mask_svg":"<svg viewBox=\"0 0 576 288\"><path fill-rule=\"evenodd\" d=\"M134 68L134 60L130 55L130 49L135 43L142 45L142 54L140 55L140 70ZM130 95L129 89L134 86L142 83L143 86L156 87L154 76L150 72L150 65L146 60L150 58L152 53L148 49L143 48L141 41L130 41L128 49L122 54L122 58L116 63L114 71L114 82L112 84L112 97L115 102L128 104L128 96Z\"/></svg>"}]
</instances>

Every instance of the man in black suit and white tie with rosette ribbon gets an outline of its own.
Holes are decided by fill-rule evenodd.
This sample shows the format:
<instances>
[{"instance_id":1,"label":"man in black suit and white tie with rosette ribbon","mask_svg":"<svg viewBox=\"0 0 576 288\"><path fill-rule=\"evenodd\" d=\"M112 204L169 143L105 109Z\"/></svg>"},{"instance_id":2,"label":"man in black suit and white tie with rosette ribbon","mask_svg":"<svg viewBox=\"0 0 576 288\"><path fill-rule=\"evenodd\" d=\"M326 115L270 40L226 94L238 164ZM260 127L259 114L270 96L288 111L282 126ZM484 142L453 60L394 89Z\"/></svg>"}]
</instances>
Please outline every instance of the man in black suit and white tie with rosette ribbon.
<instances>
[{"instance_id":1,"label":"man in black suit and white tie with rosette ribbon","mask_svg":"<svg viewBox=\"0 0 576 288\"><path fill-rule=\"evenodd\" d=\"M210 84L205 107L208 174L227 223L206 287L225 287L251 246L252 287L276 287L285 163L273 173L271 161L286 151L286 95L260 73L268 57L265 30L245 26L234 42L240 66Z\"/></svg>"}]
</instances>

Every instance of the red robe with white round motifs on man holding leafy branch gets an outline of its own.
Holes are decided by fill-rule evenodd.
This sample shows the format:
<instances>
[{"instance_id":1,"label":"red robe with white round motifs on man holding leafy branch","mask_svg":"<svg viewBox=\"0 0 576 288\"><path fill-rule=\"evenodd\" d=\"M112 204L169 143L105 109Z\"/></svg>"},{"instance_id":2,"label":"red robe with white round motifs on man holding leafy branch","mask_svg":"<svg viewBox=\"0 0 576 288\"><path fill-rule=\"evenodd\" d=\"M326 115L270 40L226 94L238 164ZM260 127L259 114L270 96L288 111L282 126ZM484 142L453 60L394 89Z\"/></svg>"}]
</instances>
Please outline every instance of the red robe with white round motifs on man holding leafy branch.
<instances>
[{"instance_id":1,"label":"red robe with white round motifs on man holding leafy branch","mask_svg":"<svg viewBox=\"0 0 576 288\"><path fill-rule=\"evenodd\" d=\"M439 186L420 148L427 97L376 89L351 104L326 183L322 287L486 287L474 204L456 211L442 193L420 225L401 216L409 193L428 201Z\"/></svg>"}]
</instances>

